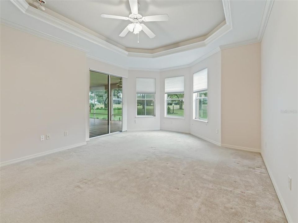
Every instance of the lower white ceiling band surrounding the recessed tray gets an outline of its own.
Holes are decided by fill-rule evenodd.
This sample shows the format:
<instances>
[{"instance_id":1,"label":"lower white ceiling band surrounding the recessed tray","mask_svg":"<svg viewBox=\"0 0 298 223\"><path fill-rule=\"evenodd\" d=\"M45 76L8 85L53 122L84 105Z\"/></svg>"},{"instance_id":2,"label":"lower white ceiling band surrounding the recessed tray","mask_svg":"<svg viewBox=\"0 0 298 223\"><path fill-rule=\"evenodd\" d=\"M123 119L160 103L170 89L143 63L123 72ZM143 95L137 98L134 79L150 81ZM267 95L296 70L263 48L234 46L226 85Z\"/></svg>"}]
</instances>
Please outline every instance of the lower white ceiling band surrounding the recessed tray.
<instances>
[{"instance_id":1,"label":"lower white ceiling band surrounding the recessed tray","mask_svg":"<svg viewBox=\"0 0 298 223\"><path fill-rule=\"evenodd\" d=\"M82 31L80 32L70 32L69 27L65 24L49 22L48 17L43 17L46 14L42 11L32 7L33 10L27 9L23 0L1 0L0 4L1 23L3 24L83 50L91 58L122 68L165 70L189 66L189 64L205 58L206 55L210 55L210 52L217 51L219 47L260 42L272 7L270 2L224 0L224 5L228 5L230 11L231 29L203 46L191 46L183 51L171 52L171 54L154 58L140 57L137 54L131 55L129 52L97 38L96 34L92 38L86 37L86 32L83 31L84 27L81 27ZM111 12L106 11L106 13ZM69 21L71 22L71 20Z\"/></svg>"}]
</instances>

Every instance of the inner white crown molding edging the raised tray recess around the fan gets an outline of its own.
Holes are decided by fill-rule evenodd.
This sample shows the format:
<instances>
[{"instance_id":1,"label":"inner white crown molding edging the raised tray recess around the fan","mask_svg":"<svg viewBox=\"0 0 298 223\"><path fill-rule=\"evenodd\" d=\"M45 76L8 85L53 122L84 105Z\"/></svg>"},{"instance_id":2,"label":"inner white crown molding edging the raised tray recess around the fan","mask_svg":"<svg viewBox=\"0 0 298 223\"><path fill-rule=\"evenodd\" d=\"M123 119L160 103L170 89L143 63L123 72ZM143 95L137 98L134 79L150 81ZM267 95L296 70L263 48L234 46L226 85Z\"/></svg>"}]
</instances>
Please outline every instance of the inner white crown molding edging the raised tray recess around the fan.
<instances>
[{"instance_id":1,"label":"inner white crown molding edging the raised tray recess around the fan","mask_svg":"<svg viewBox=\"0 0 298 223\"><path fill-rule=\"evenodd\" d=\"M199 42L190 43L193 40L184 42L184 46L178 46L177 44L172 44L170 46L161 47L159 49L155 50L138 50L139 52L130 52L129 50L137 50L137 49L128 49L124 46L120 46L117 44L115 46L112 43L106 42L105 40L101 39L100 37L94 36L86 31L81 30L80 28L77 28L73 25L70 25L66 23L65 21L62 21L60 19L57 19L56 17L49 15L43 11L40 11L34 7L29 7L28 3L25 0L10 0L16 7L20 9L23 13L26 15L29 15L31 17L34 17L38 20L41 20L43 22L46 22L47 24L50 24L56 28L62 29L68 33L71 33L75 36L78 36L80 38L83 38L84 40L87 40L89 42L92 42L94 44L97 44L99 46L102 46L106 49L115 51L121 55L125 55L128 57L142 57L142 58L157 58L165 55L170 55L178 52L183 52L187 50L192 50L200 47L207 46L209 43L213 42L214 40L218 39L228 31L232 29L232 21L231 21L231 13L230 13L230 0L222 0L223 1L223 7L224 7L224 15L225 15L225 21L220 24L218 27L216 27L213 31L211 31L208 35L205 37L199 37ZM201 40L204 38L204 40ZM182 42L183 43L183 42ZM190 44L188 44L190 43ZM181 45L181 44L180 44ZM171 46L174 48L169 49ZM175 47L178 46L178 47ZM159 51L162 50L162 51ZM157 52L159 51L159 52Z\"/></svg>"}]
</instances>

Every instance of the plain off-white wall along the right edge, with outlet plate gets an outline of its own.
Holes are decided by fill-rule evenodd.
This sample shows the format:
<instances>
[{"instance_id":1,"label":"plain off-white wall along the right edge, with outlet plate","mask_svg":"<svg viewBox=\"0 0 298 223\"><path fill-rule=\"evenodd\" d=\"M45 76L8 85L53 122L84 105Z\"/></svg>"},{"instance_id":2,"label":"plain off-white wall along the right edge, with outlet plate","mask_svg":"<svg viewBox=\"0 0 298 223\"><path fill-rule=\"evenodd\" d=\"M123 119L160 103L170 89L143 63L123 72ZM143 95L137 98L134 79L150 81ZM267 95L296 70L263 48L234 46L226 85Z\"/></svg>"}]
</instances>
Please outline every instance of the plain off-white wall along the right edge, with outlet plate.
<instances>
[{"instance_id":1,"label":"plain off-white wall along the right edge, with outlet plate","mask_svg":"<svg viewBox=\"0 0 298 223\"><path fill-rule=\"evenodd\" d=\"M297 11L297 1L274 1L261 42L261 151L289 222L298 222Z\"/></svg>"}]
</instances>

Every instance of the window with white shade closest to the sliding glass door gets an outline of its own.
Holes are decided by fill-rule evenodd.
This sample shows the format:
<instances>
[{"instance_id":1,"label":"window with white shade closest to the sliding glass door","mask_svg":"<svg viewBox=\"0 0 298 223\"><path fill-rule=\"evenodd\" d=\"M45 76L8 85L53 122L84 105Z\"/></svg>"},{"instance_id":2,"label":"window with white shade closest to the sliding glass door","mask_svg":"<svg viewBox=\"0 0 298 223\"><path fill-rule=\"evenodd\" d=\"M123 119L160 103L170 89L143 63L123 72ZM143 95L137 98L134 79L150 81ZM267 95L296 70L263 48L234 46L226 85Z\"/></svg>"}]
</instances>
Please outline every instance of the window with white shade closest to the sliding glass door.
<instances>
[{"instance_id":1,"label":"window with white shade closest to the sliding glass door","mask_svg":"<svg viewBox=\"0 0 298 223\"><path fill-rule=\"evenodd\" d=\"M155 78L137 78L137 116L155 116Z\"/></svg>"}]
</instances>

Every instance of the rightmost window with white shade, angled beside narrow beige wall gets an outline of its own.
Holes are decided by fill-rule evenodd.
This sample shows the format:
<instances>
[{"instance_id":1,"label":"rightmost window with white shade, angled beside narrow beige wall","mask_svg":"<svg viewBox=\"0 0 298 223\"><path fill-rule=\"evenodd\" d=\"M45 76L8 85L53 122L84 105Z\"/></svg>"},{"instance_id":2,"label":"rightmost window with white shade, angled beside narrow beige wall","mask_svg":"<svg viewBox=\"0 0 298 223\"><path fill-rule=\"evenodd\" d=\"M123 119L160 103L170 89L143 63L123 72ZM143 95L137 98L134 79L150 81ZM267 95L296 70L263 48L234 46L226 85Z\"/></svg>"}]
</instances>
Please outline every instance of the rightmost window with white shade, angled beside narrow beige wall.
<instances>
[{"instance_id":1,"label":"rightmost window with white shade, angled beside narrow beige wall","mask_svg":"<svg viewBox=\"0 0 298 223\"><path fill-rule=\"evenodd\" d=\"M208 71L207 68L193 74L194 118L208 120Z\"/></svg>"}]
</instances>

